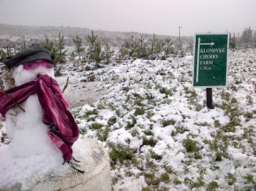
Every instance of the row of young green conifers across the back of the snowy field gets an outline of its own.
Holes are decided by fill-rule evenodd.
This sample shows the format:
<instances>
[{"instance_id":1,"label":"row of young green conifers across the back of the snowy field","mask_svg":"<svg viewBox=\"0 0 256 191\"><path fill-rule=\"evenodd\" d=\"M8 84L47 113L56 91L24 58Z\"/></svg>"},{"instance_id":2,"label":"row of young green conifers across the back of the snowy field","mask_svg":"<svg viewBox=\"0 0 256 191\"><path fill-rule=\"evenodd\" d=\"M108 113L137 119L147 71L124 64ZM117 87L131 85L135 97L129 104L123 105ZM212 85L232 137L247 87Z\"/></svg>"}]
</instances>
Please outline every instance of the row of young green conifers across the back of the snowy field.
<instances>
[{"instance_id":1,"label":"row of young green conifers across the back of the snowy field","mask_svg":"<svg viewBox=\"0 0 256 191\"><path fill-rule=\"evenodd\" d=\"M50 40L48 36L41 41L41 47L49 50L50 54L55 57L56 63L64 63L69 58L74 65L84 64L86 62L91 63L104 63L115 60L116 62L122 62L124 59L129 58L143 58L143 59L161 59L164 60L168 56L184 56L185 52L192 54L192 43L187 46L174 45L173 40L170 37L166 39L158 39L155 34L150 40L145 40L142 36L140 38L134 38L131 36L129 40L125 40L122 47L114 51L110 48L108 43L102 44L98 40L98 35L95 35L92 31L91 34L85 38L87 46L82 46L82 38L78 35L72 39L74 43L74 50L72 53L67 53L65 49L66 40L61 33L58 33L58 38ZM4 61L5 57L16 54L20 50L28 48L31 44L26 41L23 36L19 47L15 46L0 48L0 62ZM230 33L230 48L256 48L256 31L253 32L251 27L245 28L241 36L236 36L235 33Z\"/></svg>"}]
</instances>

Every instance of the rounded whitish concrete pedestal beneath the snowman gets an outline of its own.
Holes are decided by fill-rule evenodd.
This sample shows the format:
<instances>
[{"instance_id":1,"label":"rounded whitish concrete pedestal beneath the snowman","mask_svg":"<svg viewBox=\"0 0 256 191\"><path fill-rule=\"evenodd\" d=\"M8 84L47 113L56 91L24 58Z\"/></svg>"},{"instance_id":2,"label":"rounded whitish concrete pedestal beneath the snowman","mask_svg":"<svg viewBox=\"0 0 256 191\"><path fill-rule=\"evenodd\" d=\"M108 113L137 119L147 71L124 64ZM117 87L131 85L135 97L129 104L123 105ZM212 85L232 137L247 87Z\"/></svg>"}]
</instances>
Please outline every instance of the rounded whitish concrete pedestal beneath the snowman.
<instances>
[{"instance_id":1,"label":"rounded whitish concrete pedestal beneath the snowman","mask_svg":"<svg viewBox=\"0 0 256 191\"><path fill-rule=\"evenodd\" d=\"M110 191L110 166L109 154L102 148L102 145L94 140L81 138L78 140L79 158L81 153L86 153L87 156L82 158L79 163L80 170L85 173L77 173L73 171L63 177L45 177L40 180L34 191L46 190L68 190L68 191ZM74 145L74 156L78 155Z\"/></svg>"}]
</instances>

